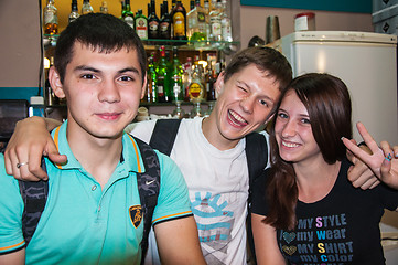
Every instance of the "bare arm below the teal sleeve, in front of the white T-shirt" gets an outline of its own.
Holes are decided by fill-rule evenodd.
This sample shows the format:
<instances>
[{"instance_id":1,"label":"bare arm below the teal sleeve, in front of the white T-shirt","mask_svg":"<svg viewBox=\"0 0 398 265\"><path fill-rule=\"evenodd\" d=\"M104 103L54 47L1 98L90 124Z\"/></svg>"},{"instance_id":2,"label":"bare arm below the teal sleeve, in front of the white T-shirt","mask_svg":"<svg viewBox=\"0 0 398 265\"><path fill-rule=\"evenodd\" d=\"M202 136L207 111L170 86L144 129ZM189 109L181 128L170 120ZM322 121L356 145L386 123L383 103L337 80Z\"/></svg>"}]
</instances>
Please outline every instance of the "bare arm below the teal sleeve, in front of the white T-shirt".
<instances>
[{"instance_id":1,"label":"bare arm below the teal sleeve, in front of the white T-shirt","mask_svg":"<svg viewBox=\"0 0 398 265\"><path fill-rule=\"evenodd\" d=\"M193 216L159 223L154 234L162 264L206 264Z\"/></svg>"}]
</instances>

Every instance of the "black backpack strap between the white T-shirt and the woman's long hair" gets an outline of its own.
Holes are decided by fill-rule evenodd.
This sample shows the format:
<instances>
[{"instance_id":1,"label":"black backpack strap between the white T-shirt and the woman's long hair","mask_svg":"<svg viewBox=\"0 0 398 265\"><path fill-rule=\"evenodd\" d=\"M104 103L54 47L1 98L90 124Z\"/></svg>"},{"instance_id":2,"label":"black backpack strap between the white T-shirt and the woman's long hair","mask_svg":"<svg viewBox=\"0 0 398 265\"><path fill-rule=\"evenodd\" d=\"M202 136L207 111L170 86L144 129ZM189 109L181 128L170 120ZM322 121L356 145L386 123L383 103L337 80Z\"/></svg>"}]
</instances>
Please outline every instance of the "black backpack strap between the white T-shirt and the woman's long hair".
<instances>
[{"instance_id":1,"label":"black backpack strap between the white T-shirt and the woman's long hair","mask_svg":"<svg viewBox=\"0 0 398 265\"><path fill-rule=\"evenodd\" d=\"M252 197L252 187L256 179L261 174L263 169L267 167L268 161L268 148L267 141L263 135L258 132L251 132L246 136L246 159L247 159L247 167L249 170L249 197L248 197L248 215L247 215L247 240L249 244L249 255L250 261L254 264L257 264L256 261L256 253L255 253L255 242L252 239L252 231L251 231L251 197Z\"/></svg>"}]
</instances>

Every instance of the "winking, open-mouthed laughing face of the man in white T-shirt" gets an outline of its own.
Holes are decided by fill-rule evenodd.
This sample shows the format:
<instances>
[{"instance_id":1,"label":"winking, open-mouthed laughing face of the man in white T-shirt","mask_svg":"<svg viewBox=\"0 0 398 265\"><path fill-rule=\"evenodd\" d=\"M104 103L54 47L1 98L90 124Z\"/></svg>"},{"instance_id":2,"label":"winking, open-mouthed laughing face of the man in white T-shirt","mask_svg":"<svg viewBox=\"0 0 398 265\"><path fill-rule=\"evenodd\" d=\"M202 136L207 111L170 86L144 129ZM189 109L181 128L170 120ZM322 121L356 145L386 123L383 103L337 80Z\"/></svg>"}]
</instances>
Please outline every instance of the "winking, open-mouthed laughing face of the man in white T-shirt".
<instances>
[{"instance_id":1,"label":"winking, open-mouthed laughing face of the man in white T-shirt","mask_svg":"<svg viewBox=\"0 0 398 265\"><path fill-rule=\"evenodd\" d=\"M219 149L234 147L263 125L280 96L279 83L254 64L232 75L226 83L219 76L216 88L219 96L209 117L216 128L212 128L208 140Z\"/></svg>"}]
</instances>

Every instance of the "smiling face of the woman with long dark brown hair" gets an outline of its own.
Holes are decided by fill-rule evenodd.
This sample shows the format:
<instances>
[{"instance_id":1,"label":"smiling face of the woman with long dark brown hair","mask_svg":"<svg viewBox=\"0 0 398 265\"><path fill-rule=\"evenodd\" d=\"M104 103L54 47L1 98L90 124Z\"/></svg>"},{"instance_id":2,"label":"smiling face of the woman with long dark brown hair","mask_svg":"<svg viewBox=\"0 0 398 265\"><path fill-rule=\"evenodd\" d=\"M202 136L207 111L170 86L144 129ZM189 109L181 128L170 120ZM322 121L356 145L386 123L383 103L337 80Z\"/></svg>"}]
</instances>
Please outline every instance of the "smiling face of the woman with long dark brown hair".
<instances>
[{"instance_id":1,"label":"smiling face of the woman with long dark brown hair","mask_svg":"<svg viewBox=\"0 0 398 265\"><path fill-rule=\"evenodd\" d=\"M276 115L275 135L279 155L284 161L323 159L312 132L309 113L293 89L287 92Z\"/></svg>"}]
</instances>

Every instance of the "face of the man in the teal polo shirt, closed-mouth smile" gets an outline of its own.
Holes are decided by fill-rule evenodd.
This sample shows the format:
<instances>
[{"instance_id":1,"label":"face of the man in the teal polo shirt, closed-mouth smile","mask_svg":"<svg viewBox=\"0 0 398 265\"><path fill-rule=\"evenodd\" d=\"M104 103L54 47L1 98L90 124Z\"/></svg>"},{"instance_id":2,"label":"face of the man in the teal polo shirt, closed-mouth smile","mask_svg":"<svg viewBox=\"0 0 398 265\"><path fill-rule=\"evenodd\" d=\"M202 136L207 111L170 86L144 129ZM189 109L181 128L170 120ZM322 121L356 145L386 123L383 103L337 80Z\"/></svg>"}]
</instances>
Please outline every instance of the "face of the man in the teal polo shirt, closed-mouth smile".
<instances>
[{"instance_id":1,"label":"face of the man in the teal polo shirt, closed-mouth smile","mask_svg":"<svg viewBox=\"0 0 398 265\"><path fill-rule=\"evenodd\" d=\"M121 137L146 87L136 50L100 53L75 42L73 51L63 83L55 68L49 75L55 94L67 99L68 136Z\"/></svg>"}]
</instances>

